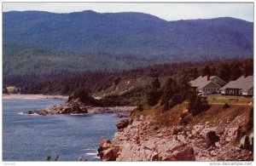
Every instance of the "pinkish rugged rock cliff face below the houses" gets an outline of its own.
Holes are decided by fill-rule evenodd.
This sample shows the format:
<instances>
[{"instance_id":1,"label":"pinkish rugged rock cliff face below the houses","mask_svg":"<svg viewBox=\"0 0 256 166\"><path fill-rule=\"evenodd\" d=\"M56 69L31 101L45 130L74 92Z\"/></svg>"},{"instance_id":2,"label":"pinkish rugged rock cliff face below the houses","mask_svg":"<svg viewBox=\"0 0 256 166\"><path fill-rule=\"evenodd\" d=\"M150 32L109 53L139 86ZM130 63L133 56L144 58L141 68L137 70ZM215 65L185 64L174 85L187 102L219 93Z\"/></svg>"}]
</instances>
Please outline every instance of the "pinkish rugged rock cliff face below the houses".
<instances>
[{"instance_id":1,"label":"pinkish rugged rock cliff face below the houses","mask_svg":"<svg viewBox=\"0 0 256 166\"><path fill-rule=\"evenodd\" d=\"M243 110L231 119L212 117L204 123L193 123L193 119L186 126L160 126L153 123L155 116L140 115L116 132L101 157L116 161L250 161L253 130L241 135L246 116Z\"/></svg>"}]
</instances>

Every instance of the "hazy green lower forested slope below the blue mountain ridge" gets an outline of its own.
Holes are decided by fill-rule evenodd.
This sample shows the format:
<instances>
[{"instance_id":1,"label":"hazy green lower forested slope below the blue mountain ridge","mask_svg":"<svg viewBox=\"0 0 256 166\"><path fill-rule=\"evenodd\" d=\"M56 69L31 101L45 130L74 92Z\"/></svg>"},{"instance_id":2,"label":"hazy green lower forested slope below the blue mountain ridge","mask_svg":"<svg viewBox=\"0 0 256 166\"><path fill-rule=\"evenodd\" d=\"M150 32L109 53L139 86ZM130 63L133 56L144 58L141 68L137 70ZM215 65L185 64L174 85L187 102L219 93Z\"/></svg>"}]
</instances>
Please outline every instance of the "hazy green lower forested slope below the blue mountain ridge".
<instances>
[{"instance_id":1,"label":"hazy green lower forested slope below the blue mountain ridge","mask_svg":"<svg viewBox=\"0 0 256 166\"><path fill-rule=\"evenodd\" d=\"M157 58L146 60L127 54L75 53L26 44L3 44L3 76L125 70L148 66L152 61ZM163 63L163 60L159 62Z\"/></svg>"}]
</instances>

